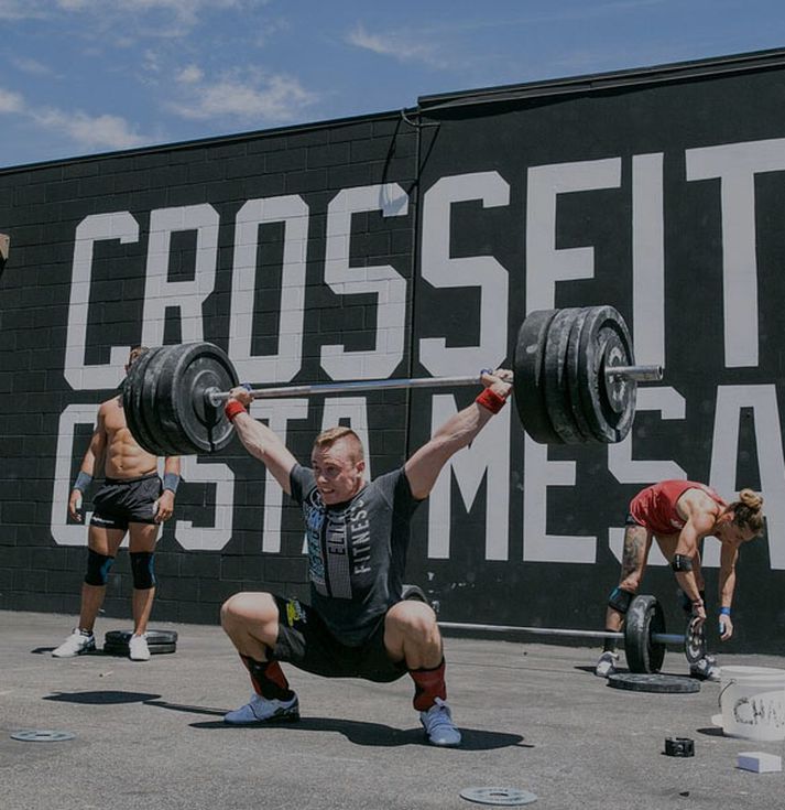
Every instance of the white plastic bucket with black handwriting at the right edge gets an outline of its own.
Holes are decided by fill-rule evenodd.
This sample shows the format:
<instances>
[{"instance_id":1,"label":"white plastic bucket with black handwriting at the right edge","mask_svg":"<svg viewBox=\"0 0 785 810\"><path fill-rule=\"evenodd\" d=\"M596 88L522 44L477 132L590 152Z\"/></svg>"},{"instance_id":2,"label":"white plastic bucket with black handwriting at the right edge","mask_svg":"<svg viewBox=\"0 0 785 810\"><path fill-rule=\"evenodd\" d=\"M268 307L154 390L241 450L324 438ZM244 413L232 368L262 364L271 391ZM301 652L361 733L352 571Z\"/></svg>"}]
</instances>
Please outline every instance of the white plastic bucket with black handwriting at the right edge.
<instances>
[{"instance_id":1,"label":"white plastic bucket with black handwriting at the right edge","mask_svg":"<svg viewBox=\"0 0 785 810\"><path fill-rule=\"evenodd\" d=\"M785 669L722 667L722 732L744 739L785 739Z\"/></svg>"}]
</instances>

